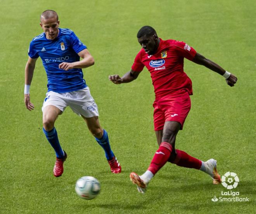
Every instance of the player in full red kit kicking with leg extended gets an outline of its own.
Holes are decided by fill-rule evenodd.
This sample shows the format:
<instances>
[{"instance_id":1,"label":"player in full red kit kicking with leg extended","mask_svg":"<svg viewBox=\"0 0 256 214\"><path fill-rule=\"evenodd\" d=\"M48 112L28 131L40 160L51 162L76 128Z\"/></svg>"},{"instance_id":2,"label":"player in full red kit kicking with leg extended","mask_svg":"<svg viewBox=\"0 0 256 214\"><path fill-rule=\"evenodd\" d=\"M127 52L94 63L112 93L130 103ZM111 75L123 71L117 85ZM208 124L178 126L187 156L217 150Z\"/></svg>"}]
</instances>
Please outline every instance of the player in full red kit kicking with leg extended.
<instances>
[{"instance_id":1,"label":"player in full red kit kicking with leg extended","mask_svg":"<svg viewBox=\"0 0 256 214\"><path fill-rule=\"evenodd\" d=\"M122 77L110 75L109 80L115 84L129 83L137 79L144 66L147 67L156 94L153 104L154 129L159 148L147 171L141 176L131 173L131 181L137 185L139 192L145 193L150 179L168 161L178 166L200 169L211 176L214 184L221 183L216 160L204 162L175 149L176 135L183 128L191 106L189 96L192 95L192 82L183 71L184 58L222 75L229 86L234 86L237 78L186 43L162 40L150 26L142 27L137 38L142 49L135 57L131 70Z\"/></svg>"}]
</instances>

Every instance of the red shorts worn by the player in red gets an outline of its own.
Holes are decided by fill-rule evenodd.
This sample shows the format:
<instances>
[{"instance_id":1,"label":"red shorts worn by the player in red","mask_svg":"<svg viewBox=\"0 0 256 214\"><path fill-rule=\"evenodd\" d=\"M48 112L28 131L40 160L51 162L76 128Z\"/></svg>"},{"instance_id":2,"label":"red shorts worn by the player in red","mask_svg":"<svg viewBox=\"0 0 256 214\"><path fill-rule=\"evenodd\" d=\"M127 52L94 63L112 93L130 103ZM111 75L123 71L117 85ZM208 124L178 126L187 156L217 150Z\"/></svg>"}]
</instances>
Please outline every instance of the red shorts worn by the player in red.
<instances>
[{"instance_id":1,"label":"red shorts worn by the player in red","mask_svg":"<svg viewBox=\"0 0 256 214\"><path fill-rule=\"evenodd\" d=\"M165 121L177 121L182 129L191 107L189 93L182 91L164 96L155 101L153 107L155 131L163 130Z\"/></svg>"}]
</instances>

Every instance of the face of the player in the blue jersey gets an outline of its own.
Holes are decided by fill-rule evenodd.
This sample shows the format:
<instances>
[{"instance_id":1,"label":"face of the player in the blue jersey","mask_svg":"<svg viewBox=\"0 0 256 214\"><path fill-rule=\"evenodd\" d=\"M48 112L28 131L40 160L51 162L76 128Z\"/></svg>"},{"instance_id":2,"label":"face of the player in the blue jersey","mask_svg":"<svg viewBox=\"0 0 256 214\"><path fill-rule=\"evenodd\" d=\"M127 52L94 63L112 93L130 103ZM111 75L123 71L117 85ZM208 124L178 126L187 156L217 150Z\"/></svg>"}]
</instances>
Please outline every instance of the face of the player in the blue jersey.
<instances>
[{"instance_id":1,"label":"face of the player in the blue jersey","mask_svg":"<svg viewBox=\"0 0 256 214\"><path fill-rule=\"evenodd\" d=\"M60 21L57 18L41 19L40 26L48 40L54 40L59 34Z\"/></svg>"}]
</instances>

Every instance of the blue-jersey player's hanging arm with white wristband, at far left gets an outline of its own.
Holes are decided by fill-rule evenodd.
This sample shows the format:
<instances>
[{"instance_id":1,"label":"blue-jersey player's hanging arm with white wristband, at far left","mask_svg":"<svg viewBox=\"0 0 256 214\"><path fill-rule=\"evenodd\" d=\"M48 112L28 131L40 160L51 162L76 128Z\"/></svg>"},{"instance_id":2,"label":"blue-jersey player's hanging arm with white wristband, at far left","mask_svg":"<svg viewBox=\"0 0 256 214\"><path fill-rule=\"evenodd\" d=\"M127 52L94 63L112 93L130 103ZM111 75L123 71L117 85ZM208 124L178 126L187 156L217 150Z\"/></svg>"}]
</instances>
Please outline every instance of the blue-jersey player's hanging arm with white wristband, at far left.
<instances>
[{"instance_id":1,"label":"blue-jersey player's hanging arm with white wristband, at far left","mask_svg":"<svg viewBox=\"0 0 256 214\"><path fill-rule=\"evenodd\" d=\"M25 67L25 89L31 85L37 59L38 58L33 59L28 57L28 62ZM30 102L30 94L28 89L24 91L24 102L28 110L31 111L34 109L34 105Z\"/></svg>"}]
</instances>

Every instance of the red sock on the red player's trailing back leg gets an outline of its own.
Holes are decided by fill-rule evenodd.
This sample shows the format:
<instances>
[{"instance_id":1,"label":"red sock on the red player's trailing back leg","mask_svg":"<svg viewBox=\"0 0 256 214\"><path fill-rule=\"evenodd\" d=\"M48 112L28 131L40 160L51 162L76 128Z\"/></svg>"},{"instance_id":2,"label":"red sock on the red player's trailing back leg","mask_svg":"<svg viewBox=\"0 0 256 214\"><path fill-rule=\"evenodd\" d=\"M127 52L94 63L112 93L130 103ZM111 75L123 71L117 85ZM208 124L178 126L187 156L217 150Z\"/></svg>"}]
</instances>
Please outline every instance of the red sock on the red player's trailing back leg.
<instances>
[{"instance_id":1,"label":"red sock on the red player's trailing back leg","mask_svg":"<svg viewBox=\"0 0 256 214\"><path fill-rule=\"evenodd\" d=\"M194 168L194 169L200 169L202 165L202 161L199 159L196 159L190 155L188 155L186 152L182 150L176 149L177 156L174 161L171 161L171 163L176 164L177 166L187 167L187 168Z\"/></svg>"}]
</instances>

